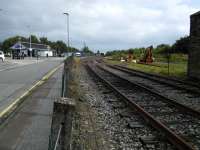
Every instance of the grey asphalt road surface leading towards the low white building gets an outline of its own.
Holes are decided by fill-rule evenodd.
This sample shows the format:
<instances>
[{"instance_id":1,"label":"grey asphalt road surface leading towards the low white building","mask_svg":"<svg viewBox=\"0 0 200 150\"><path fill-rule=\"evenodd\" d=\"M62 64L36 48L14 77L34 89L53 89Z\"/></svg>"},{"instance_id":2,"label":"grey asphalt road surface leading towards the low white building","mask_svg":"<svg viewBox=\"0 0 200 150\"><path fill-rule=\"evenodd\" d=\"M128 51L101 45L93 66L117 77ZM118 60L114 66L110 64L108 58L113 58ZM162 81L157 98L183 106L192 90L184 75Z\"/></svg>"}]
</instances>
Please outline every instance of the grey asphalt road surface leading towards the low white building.
<instances>
[{"instance_id":1,"label":"grey asphalt road surface leading towards the low white building","mask_svg":"<svg viewBox=\"0 0 200 150\"><path fill-rule=\"evenodd\" d=\"M32 87L47 72L58 66L63 59L49 58L42 61L25 60L25 64L12 63L6 69L0 70L0 112L8 107L17 97L22 95L27 89ZM20 62L20 61L19 61ZM23 61L21 61L23 62ZM31 62L31 63L29 63Z\"/></svg>"}]
</instances>

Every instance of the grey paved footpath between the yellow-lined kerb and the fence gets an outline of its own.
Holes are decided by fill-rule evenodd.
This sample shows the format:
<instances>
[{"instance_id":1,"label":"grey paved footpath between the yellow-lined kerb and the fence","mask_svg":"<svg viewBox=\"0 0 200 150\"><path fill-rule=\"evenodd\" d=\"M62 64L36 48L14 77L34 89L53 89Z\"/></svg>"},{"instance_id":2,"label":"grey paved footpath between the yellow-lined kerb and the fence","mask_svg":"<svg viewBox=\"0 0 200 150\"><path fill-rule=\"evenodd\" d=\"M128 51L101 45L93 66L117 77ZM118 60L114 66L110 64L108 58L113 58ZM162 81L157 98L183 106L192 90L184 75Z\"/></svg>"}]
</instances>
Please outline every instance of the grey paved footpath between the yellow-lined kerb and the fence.
<instances>
[{"instance_id":1,"label":"grey paved footpath between the yellow-lined kerb and the fence","mask_svg":"<svg viewBox=\"0 0 200 150\"><path fill-rule=\"evenodd\" d=\"M53 101L60 97L62 67L28 96L0 129L0 150L47 150Z\"/></svg>"}]
</instances>

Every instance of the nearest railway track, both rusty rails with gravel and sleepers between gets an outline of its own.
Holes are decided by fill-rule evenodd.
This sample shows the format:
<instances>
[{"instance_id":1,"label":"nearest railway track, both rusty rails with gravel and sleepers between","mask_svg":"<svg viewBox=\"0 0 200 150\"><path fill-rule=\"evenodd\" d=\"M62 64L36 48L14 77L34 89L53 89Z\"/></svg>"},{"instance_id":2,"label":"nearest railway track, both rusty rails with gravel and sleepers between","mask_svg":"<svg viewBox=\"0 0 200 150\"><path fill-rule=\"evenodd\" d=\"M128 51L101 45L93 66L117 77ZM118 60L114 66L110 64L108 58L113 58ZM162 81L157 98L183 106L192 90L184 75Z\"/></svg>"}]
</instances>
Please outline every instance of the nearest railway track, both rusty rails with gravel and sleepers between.
<instances>
[{"instance_id":1,"label":"nearest railway track, both rusty rails with gravel and sleepers between","mask_svg":"<svg viewBox=\"0 0 200 150\"><path fill-rule=\"evenodd\" d=\"M108 68L89 66L107 86L114 90L131 108L160 131L177 149L200 149L200 113L189 107L148 90Z\"/></svg>"}]
</instances>

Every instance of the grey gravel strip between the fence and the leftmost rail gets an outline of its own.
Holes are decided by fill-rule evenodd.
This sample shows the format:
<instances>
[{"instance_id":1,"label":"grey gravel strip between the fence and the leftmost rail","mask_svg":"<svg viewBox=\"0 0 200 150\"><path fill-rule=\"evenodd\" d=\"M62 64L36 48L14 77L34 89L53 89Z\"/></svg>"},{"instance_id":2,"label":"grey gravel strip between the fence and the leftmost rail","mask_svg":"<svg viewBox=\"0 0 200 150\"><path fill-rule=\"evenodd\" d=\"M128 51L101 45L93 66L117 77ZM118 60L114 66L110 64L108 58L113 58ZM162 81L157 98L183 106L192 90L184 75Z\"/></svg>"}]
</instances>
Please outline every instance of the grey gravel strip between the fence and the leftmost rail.
<instances>
[{"instance_id":1,"label":"grey gravel strip between the fence and the leftmost rail","mask_svg":"<svg viewBox=\"0 0 200 150\"><path fill-rule=\"evenodd\" d=\"M160 133L148 126L135 110L130 110L113 92L91 77L82 67L80 86L85 100L94 110L97 130L109 141L109 149L144 150L141 140L152 138L151 149L173 149Z\"/></svg>"}]
</instances>

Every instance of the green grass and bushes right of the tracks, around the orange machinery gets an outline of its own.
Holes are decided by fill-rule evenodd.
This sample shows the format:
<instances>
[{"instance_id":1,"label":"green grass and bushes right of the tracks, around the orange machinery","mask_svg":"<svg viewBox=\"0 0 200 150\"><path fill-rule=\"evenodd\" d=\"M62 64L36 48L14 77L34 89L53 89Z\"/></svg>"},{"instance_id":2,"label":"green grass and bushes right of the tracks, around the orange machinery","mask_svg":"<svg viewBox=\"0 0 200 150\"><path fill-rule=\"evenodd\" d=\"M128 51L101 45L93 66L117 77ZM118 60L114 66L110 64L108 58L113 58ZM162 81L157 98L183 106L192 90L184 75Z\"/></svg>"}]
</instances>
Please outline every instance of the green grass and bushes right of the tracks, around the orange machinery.
<instances>
[{"instance_id":1,"label":"green grass and bushes right of the tracks, around the orange machinery","mask_svg":"<svg viewBox=\"0 0 200 150\"><path fill-rule=\"evenodd\" d=\"M127 50L114 50L106 53L107 60L112 64L120 64L120 58L126 58L128 53L133 53L134 59L139 60L145 53L145 48L130 48ZM154 63L152 65L124 63L126 66L161 75L168 75L168 58L169 58L169 75L176 77L185 77L187 74L187 60L189 51L189 36L177 40L173 45L160 44L153 50Z\"/></svg>"}]
</instances>

